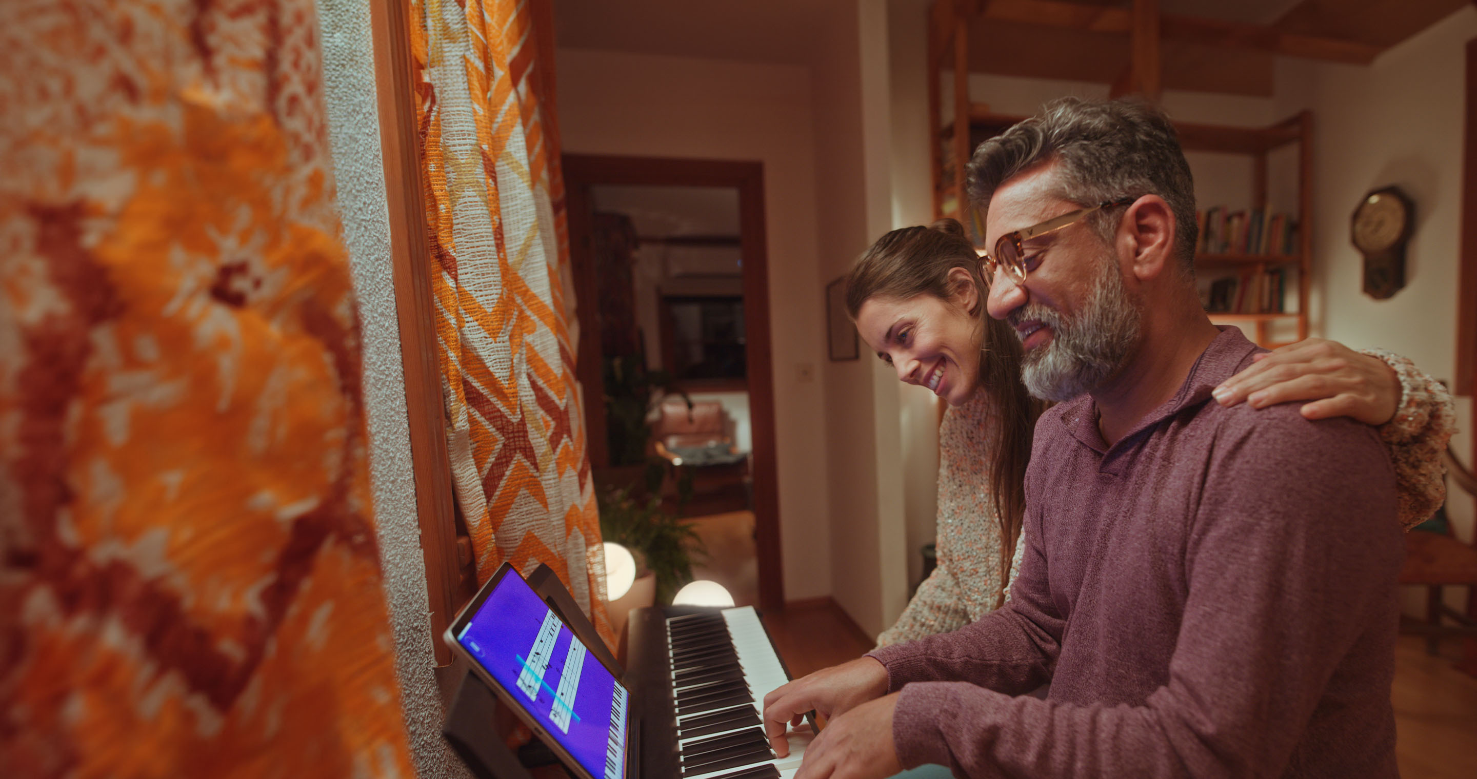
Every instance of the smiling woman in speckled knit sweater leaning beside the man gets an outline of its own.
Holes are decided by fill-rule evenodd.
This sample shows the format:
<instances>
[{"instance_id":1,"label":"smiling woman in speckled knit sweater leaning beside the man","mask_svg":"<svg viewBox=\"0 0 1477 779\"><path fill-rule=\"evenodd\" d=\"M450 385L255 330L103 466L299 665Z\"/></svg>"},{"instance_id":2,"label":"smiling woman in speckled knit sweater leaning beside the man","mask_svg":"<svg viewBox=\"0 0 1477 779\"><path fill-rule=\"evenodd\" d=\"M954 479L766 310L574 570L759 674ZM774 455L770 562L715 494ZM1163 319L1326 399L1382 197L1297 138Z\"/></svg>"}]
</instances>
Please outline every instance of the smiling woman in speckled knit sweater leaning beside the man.
<instances>
[{"instance_id":1,"label":"smiling woman in speckled knit sweater leaning beside the man","mask_svg":"<svg viewBox=\"0 0 1477 779\"><path fill-rule=\"evenodd\" d=\"M1021 344L984 313L979 258L954 220L882 236L846 279L846 310L898 378L950 409L939 426L938 567L879 645L944 633L1004 602L1024 544L1024 477L1044 406L1021 384ZM1440 454L1453 431L1446 390L1396 354L1309 339L1258 356L1216 390L1224 406L1294 400L1303 416L1380 425L1400 485L1400 522L1445 496Z\"/></svg>"}]
</instances>

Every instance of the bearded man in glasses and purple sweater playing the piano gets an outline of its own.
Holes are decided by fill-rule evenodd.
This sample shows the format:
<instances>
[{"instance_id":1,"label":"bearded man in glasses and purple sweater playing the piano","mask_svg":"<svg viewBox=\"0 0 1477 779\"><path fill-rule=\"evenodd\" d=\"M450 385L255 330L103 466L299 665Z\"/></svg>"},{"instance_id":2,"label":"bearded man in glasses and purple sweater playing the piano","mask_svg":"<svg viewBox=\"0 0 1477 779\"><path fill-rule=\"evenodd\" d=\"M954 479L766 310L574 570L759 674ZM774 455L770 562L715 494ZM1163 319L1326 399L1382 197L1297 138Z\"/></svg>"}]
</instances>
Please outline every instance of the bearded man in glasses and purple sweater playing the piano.
<instances>
[{"instance_id":1,"label":"bearded man in glasses and purple sweater playing the piano","mask_svg":"<svg viewBox=\"0 0 1477 779\"><path fill-rule=\"evenodd\" d=\"M765 698L830 726L796 779L1397 776L1403 544L1374 429L1211 401L1258 350L1193 283L1193 183L1170 121L1059 100L979 146L988 310L1037 423L1010 600ZM1044 699L1024 695L1050 682Z\"/></svg>"}]
</instances>

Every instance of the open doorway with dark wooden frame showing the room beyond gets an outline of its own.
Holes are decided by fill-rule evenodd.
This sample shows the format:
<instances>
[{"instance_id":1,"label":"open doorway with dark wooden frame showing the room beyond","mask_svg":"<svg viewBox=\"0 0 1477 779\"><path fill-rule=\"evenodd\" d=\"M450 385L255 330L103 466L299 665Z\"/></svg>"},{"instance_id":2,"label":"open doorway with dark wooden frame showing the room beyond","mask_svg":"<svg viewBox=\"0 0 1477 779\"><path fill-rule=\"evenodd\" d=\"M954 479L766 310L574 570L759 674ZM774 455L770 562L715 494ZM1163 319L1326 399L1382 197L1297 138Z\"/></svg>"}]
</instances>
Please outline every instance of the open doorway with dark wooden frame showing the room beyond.
<instances>
[{"instance_id":1,"label":"open doorway with dark wooden frame showing the room beyond","mask_svg":"<svg viewBox=\"0 0 1477 779\"><path fill-rule=\"evenodd\" d=\"M665 457L665 503L709 550L694 574L783 608L762 164L563 162L591 465ZM637 369L666 397L607 413Z\"/></svg>"}]
</instances>

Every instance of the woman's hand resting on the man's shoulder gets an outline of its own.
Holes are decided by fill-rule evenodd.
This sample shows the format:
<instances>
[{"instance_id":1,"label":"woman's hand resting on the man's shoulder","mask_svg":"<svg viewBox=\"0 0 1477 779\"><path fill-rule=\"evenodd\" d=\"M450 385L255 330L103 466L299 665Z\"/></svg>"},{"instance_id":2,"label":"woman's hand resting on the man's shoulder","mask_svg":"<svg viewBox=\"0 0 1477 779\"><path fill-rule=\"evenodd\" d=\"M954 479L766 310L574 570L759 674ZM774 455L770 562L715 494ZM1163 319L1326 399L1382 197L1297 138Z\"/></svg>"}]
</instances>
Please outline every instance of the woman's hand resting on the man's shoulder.
<instances>
[{"instance_id":1,"label":"woman's hand resting on the man's shoulder","mask_svg":"<svg viewBox=\"0 0 1477 779\"><path fill-rule=\"evenodd\" d=\"M1378 357L1360 354L1337 341L1309 338L1267 354L1214 390L1216 401L1252 409L1306 400L1303 416L1349 416L1384 425L1400 403L1400 378Z\"/></svg>"}]
</instances>

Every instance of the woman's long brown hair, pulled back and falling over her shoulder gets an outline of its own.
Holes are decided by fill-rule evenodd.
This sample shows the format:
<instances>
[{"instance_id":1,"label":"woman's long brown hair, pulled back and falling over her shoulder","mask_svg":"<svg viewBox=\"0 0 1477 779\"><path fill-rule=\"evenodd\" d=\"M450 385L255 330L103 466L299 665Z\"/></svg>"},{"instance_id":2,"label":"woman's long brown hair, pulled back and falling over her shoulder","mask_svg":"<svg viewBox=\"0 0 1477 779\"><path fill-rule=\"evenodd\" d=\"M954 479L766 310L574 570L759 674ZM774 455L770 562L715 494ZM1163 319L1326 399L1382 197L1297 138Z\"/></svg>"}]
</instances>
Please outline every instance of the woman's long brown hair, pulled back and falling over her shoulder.
<instances>
[{"instance_id":1,"label":"woman's long brown hair, pulled back and falling over her shoulder","mask_svg":"<svg viewBox=\"0 0 1477 779\"><path fill-rule=\"evenodd\" d=\"M948 277L956 267L969 271L970 283L978 291L975 310L970 311L981 326L978 391L988 392L991 403L991 413L985 418L994 428L987 431L985 440L995 441L988 468L990 497L1004 544L1000 555L1001 592L995 602L998 608L1004 602L1010 561L1021 540L1031 435L1046 404L1032 398L1021 384L1019 338L1009 325L985 313L990 288L979 274L979 255L964 236L964 227L945 218L928 227L902 227L879 238L846 276L846 313L855 320L861 304L879 295L897 300L933 295L948 300L957 291Z\"/></svg>"}]
</instances>

